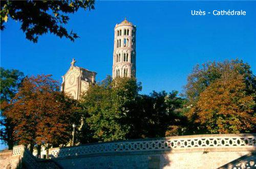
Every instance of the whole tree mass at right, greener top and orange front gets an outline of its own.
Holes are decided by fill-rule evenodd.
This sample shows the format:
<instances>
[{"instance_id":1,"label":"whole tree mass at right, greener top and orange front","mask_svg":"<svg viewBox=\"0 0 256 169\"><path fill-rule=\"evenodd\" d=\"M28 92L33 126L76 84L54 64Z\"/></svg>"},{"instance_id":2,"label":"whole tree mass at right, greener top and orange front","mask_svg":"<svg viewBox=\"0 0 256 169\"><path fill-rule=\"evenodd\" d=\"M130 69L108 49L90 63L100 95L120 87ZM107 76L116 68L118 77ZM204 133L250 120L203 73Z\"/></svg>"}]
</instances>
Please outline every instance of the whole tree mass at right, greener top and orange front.
<instances>
[{"instance_id":1,"label":"whole tree mass at right, greener top and orange front","mask_svg":"<svg viewBox=\"0 0 256 169\"><path fill-rule=\"evenodd\" d=\"M197 65L188 76L186 115L191 133L255 130L256 79L242 60Z\"/></svg>"}]
</instances>

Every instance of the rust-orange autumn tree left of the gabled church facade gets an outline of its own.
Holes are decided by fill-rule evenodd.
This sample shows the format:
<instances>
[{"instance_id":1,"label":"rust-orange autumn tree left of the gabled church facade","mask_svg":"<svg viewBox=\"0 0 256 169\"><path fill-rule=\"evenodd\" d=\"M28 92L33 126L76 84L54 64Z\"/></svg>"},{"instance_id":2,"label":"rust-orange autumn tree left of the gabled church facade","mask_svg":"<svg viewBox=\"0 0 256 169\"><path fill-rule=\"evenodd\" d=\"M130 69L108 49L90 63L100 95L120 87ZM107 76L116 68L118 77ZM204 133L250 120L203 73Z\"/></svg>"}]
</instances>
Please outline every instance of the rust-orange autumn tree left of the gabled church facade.
<instances>
[{"instance_id":1,"label":"rust-orange autumn tree left of the gabled church facade","mask_svg":"<svg viewBox=\"0 0 256 169\"><path fill-rule=\"evenodd\" d=\"M10 104L3 104L4 115L15 124L18 144L58 146L71 138L75 104L59 92L50 75L25 78Z\"/></svg>"}]
</instances>

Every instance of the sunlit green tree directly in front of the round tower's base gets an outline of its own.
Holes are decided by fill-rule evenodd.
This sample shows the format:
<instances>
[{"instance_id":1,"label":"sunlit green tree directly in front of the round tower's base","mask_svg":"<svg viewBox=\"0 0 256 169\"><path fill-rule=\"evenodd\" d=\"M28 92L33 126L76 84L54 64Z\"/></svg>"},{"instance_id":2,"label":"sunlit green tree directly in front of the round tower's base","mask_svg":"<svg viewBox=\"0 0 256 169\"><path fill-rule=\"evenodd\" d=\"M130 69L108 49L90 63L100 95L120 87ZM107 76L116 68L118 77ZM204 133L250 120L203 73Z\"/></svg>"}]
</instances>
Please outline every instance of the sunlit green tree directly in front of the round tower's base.
<instances>
[{"instance_id":1,"label":"sunlit green tree directly in front of the round tower's base","mask_svg":"<svg viewBox=\"0 0 256 169\"><path fill-rule=\"evenodd\" d=\"M129 116L129 105L135 102L140 84L133 78L106 78L90 86L81 100L84 122L93 132L97 141L125 139L130 126L125 122Z\"/></svg>"}]
</instances>

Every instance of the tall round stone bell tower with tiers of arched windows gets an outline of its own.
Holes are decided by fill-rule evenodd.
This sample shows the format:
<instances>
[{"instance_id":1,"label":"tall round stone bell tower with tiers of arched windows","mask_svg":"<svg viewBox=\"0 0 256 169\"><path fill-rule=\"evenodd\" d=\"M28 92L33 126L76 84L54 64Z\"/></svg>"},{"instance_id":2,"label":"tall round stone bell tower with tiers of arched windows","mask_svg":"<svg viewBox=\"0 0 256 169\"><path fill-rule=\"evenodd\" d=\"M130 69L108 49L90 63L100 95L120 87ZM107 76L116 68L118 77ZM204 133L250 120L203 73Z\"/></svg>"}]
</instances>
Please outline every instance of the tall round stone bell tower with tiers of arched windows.
<instances>
[{"instance_id":1,"label":"tall round stone bell tower with tiers of arched windows","mask_svg":"<svg viewBox=\"0 0 256 169\"><path fill-rule=\"evenodd\" d=\"M112 75L136 77L136 26L126 18L115 26Z\"/></svg>"}]
</instances>

